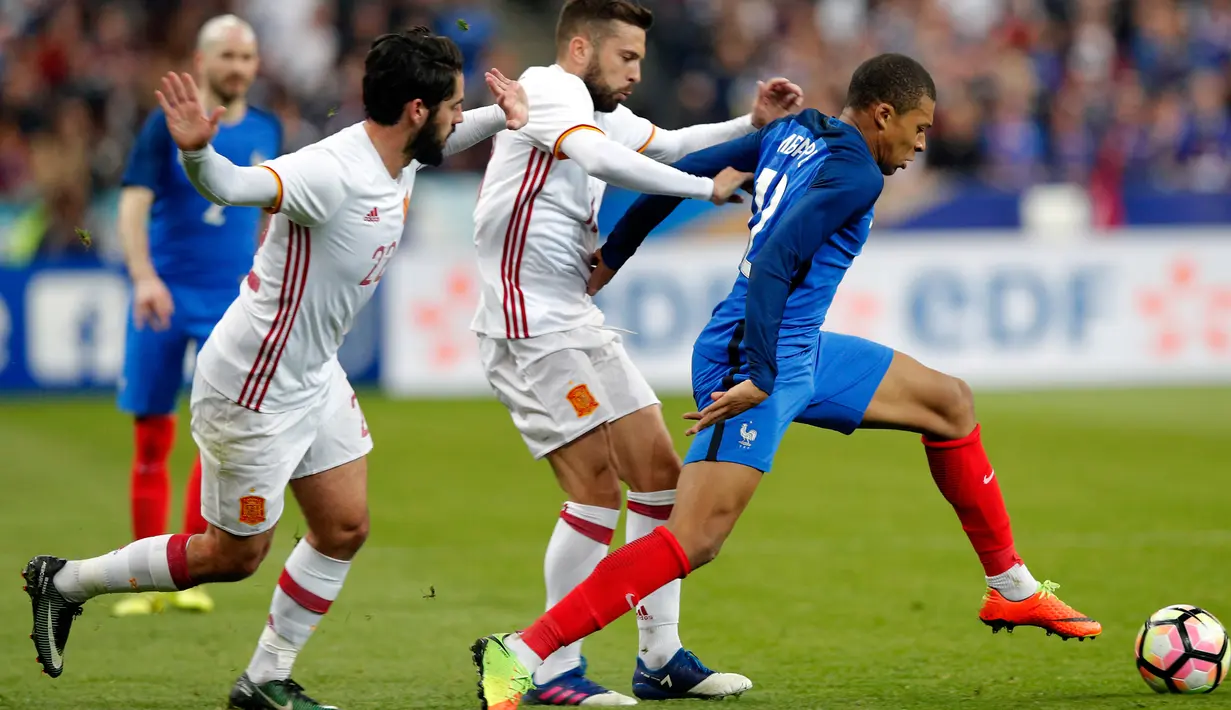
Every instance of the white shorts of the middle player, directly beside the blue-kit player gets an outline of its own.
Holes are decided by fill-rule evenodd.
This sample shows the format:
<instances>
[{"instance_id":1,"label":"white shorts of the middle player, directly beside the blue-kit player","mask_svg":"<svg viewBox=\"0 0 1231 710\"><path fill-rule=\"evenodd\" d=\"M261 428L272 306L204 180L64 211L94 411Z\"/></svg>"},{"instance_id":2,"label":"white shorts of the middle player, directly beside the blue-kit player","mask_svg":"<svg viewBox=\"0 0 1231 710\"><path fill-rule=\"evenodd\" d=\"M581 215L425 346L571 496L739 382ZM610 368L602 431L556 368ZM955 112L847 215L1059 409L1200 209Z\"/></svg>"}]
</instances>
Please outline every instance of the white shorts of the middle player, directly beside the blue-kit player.
<instances>
[{"instance_id":1,"label":"white shorts of the middle player, directly beside the blue-kit player","mask_svg":"<svg viewBox=\"0 0 1231 710\"><path fill-rule=\"evenodd\" d=\"M479 336L479 356L535 459L660 404L618 332L583 326L521 340Z\"/></svg>"}]
</instances>

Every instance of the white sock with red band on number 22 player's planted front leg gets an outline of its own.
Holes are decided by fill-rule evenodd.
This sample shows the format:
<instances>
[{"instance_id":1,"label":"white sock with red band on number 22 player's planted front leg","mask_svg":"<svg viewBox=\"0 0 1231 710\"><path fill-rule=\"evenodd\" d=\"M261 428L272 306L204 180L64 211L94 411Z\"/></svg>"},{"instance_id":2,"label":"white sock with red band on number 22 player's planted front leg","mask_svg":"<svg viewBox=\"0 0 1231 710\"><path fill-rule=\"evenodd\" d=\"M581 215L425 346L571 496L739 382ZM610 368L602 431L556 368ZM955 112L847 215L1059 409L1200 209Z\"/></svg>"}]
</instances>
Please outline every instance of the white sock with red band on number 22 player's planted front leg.
<instances>
[{"instance_id":1,"label":"white sock with red band on number 22 player's planted front leg","mask_svg":"<svg viewBox=\"0 0 1231 710\"><path fill-rule=\"evenodd\" d=\"M270 604L270 621L256 642L247 677L254 683L286 680L295 657L342 591L351 562L321 555L307 539L287 557Z\"/></svg>"}]
</instances>

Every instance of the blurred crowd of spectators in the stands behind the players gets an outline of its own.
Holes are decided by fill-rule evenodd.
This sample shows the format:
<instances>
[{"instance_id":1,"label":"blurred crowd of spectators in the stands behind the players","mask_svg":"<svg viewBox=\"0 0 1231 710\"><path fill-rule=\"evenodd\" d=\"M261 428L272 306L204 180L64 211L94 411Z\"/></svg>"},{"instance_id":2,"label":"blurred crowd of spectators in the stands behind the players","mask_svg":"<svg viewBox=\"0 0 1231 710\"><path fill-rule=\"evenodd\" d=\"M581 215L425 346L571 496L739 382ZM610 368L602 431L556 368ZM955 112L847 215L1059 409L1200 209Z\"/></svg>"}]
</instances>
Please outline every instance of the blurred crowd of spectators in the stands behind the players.
<instances>
[{"instance_id":1,"label":"blurred crowd of spectators in the stands behind the players","mask_svg":"<svg viewBox=\"0 0 1231 710\"><path fill-rule=\"evenodd\" d=\"M559 2L5 0L0 198L54 205L30 218L68 236L55 225L79 224L91 194L117 185L158 78L191 70L196 32L219 12L256 27L252 101L281 117L294 150L362 118L363 53L377 34L427 25L452 36L476 106L487 101L486 66L518 73L550 60ZM928 170L1006 188L1231 187L1231 0L643 2L656 26L630 106L665 127L740 113L756 80L772 75L837 112L854 66L894 50L937 79ZM449 169L485 160L475 150Z\"/></svg>"}]
</instances>

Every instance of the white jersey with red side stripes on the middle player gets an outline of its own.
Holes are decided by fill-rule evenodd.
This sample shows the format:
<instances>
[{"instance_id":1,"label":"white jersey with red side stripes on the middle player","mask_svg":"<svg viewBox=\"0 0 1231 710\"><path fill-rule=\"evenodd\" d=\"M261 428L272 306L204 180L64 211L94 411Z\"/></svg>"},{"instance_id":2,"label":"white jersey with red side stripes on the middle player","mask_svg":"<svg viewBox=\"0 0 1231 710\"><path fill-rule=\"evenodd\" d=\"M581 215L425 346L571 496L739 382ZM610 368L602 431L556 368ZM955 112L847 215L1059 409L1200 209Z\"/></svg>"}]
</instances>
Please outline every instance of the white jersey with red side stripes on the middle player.
<instances>
[{"instance_id":1,"label":"white jersey with red side stripes on the middle player","mask_svg":"<svg viewBox=\"0 0 1231 710\"><path fill-rule=\"evenodd\" d=\"M586 281L607 185L563 155L560 143L588 129L640 151L655 132L623 106L596 112L582 80L559 65L532 66L518 81L529 122L496 135L474 210L483 283L470 327L496 338L602 322Z\"/></svg>"}]
</instances>

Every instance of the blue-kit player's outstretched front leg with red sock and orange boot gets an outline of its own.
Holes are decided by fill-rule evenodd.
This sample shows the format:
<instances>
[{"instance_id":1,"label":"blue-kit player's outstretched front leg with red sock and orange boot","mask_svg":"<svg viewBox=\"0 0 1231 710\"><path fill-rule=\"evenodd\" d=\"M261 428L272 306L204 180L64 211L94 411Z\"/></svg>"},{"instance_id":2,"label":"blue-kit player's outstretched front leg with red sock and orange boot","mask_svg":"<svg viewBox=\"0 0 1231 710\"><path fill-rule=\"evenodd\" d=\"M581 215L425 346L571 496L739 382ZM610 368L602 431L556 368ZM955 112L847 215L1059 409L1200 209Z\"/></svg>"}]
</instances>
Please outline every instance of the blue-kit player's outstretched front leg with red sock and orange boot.
<instances>
[{"instance_id":1,"label":"blue-kit player's outstretched front leg with red sock and orange boot","mask_svg":"<svg viewBox=\"0 0 1231 710\"><path fill-rule=\"evenodd\" d=\"M838 333L824 333L820 362L817 397L824 402L805 412L801 421L811 418L809 423L847 433L859 426L923 436L932 479L953 506L984 566L988 588L979 616L985 624L993 630L1040 626L1064 639L1102 632L1098 621L1055 596L1055 583L1035 581L1018 556L966 383L904 353ZM873 388L875 394L868 401Z\"/></svg>"}]
</instances>

